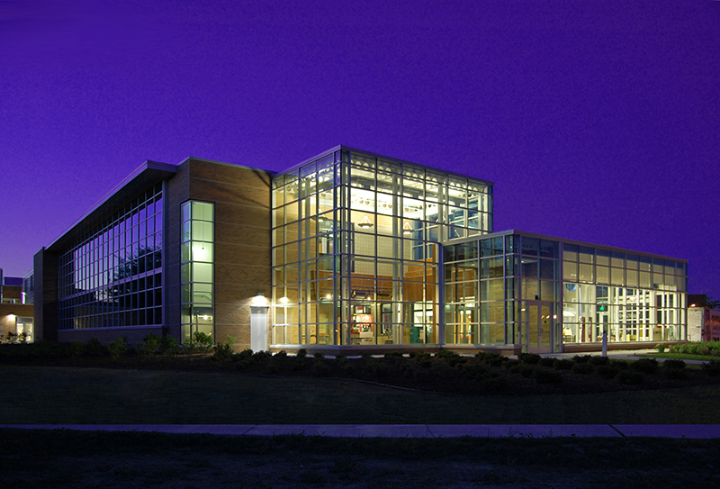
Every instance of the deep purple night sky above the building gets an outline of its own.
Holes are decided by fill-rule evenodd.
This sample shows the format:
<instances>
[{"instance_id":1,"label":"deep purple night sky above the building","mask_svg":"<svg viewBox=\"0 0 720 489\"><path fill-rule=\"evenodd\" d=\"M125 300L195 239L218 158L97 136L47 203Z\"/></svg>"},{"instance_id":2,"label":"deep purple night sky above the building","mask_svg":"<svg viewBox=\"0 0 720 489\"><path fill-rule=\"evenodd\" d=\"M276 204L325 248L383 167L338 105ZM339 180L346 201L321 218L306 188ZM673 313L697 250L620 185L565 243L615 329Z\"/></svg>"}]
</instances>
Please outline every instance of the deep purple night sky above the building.
<instances>
[{"instance_id":1,"label":"deep purple night sky above the building","mask_svg":"<svg viewBox=\"0 0 720 489\"><path fill-rule=\"evenodd\" d=\"M146 159L347 144L493 180L495 230L720 298L720 1L0 1L0 267Z\"/></svg>"}]
</instances>

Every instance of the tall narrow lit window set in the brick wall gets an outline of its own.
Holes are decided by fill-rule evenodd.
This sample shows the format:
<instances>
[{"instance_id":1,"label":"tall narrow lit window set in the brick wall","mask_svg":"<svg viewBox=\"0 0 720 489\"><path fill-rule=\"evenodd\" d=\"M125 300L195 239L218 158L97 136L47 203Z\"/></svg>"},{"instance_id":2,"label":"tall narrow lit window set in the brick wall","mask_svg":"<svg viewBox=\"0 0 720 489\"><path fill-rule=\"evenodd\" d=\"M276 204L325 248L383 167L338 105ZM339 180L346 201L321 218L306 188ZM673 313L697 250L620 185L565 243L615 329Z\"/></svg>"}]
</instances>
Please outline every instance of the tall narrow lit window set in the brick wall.
<instances>
[{"instance_id":1,"label":"tall narrow lit window set in the brick wall","mask_svg":"<svg viewBox=\"0 0 720 489\"><path fill-rule=\"evenodd\" d=\"M214 264L214 205L190 201L182 206L183 228L180 245L182 282L183 342L212 337Z\"/></svg>"}]
</instances>

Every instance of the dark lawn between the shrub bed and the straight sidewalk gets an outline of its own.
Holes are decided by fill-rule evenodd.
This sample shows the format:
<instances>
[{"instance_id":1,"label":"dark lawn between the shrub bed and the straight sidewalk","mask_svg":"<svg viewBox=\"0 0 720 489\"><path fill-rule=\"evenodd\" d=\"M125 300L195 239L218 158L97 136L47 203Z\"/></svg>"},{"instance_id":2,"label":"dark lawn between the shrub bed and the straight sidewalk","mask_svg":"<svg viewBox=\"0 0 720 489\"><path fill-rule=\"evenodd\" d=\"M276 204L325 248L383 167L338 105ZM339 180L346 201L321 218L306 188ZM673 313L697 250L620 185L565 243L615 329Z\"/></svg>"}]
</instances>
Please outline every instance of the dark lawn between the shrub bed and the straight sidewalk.
<instances>
[{"instance_id":1,"label":"dark lawn between the shrub bed and the straight sidewalk","mask_svg":"<svg viewBox=\"0 0 720 489\"><path fill-rule=\"evenodd\" d=\"M331 378L2 366L7 424L713 424L720 388L423 393Z\"/></svg>"}]
</instances>

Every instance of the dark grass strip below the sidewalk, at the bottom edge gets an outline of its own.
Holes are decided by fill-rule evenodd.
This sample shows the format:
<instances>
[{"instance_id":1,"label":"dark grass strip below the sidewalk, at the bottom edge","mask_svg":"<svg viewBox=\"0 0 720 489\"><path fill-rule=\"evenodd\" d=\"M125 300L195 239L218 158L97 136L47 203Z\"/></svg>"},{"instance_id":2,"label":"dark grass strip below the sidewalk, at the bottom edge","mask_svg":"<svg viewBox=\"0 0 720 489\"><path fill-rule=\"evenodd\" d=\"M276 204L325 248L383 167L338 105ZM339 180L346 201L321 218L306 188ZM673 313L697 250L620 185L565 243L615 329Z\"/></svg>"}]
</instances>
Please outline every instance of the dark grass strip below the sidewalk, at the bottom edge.
<instances>
[{"instance_id":1,"label":"dark grass strip below the sidewalk, at the bottom edge","mask_svg":"<svg viewBox=\"0 0 720 489\"><path fill-rule=\"evenodd\" d=\"M720 440L0 430L4 487L718 487Z\"/></svg>"}]
</instances>

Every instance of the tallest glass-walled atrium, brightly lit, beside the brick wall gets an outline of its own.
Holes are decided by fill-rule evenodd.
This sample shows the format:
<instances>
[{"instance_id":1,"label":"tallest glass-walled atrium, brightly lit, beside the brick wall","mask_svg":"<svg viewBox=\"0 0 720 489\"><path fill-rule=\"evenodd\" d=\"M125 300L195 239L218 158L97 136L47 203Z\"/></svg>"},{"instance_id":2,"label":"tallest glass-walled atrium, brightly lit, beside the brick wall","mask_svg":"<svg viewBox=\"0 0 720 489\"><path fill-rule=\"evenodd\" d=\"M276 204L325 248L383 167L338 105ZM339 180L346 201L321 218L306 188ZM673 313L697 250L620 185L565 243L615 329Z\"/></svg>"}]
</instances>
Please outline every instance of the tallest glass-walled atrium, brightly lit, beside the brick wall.
<instances>
[{"instance_id":1,"label":"tallest glass-walled atrium, brightly lit, beside the brick wall","mask_svg":"<svg viewBox=\"0 0 720 489\"><path fill-rule=\"evenodd\" d=\"M491 186L336 151L274 179L274 344L437 343L441 240L491 230Z\"/></svg>"}]
</instances>

